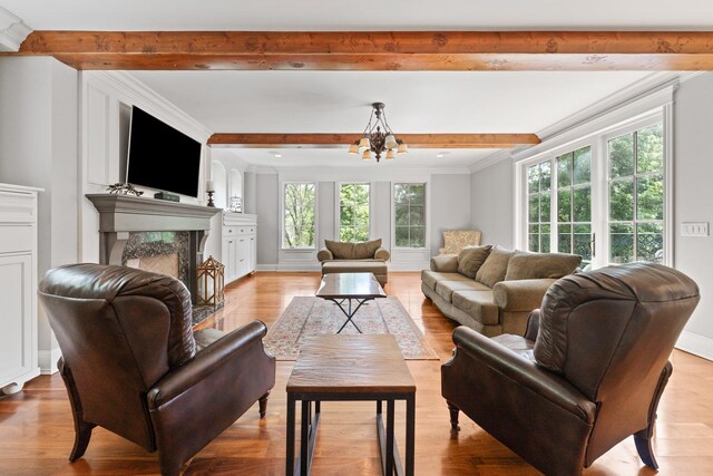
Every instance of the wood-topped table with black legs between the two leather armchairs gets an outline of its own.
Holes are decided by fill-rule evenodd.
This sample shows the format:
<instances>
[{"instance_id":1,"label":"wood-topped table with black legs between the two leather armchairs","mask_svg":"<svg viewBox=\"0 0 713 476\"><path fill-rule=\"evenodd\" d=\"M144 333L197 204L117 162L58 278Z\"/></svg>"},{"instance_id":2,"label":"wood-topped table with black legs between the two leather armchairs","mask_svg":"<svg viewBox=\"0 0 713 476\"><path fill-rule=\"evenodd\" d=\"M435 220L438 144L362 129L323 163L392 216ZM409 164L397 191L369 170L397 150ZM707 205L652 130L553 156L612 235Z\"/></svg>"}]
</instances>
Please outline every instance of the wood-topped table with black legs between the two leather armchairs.
<instances>
[{"instance_id":1,"label":"wood-topped table with black legs between the two leather armchairs","mask_svg":"<svg viewBox=\"0 0 713 476\"><path fill-rule=\"evenodd\" d=\"M302 401L295 465L295 406ZM309 475L322 401L374 400L384 475L413 475L416 385L392 336L318 336L304 342L287 381L286 474ZM406 468L393 434L394 401L406 400ZM382 402L387 402L384 435ZM314 412L312 411L314 404ZM406 473L404 473L406 469Z\"/></svg>"}]
</instances>

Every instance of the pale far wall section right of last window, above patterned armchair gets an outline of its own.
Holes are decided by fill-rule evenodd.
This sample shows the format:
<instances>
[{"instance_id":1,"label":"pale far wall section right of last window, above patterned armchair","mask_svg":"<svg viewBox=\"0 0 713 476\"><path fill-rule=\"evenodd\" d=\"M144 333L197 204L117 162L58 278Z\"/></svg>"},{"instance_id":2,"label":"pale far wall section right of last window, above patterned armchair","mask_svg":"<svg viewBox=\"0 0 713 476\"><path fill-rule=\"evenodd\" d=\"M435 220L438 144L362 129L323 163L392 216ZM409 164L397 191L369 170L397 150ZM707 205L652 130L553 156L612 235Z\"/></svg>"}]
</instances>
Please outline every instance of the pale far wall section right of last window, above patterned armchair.
<instances>
[{"instance_id":1,"label":"pale far wall section right of last window, above patterned armchair","mask_svg":"<svg viewBox=\"0 0 713 476\"><path fill-rule=\"evenodd\" d=\"M470 176L431 176L431 254L443 247L446 230L470 230Z\"/></svg>"}]
</instances>

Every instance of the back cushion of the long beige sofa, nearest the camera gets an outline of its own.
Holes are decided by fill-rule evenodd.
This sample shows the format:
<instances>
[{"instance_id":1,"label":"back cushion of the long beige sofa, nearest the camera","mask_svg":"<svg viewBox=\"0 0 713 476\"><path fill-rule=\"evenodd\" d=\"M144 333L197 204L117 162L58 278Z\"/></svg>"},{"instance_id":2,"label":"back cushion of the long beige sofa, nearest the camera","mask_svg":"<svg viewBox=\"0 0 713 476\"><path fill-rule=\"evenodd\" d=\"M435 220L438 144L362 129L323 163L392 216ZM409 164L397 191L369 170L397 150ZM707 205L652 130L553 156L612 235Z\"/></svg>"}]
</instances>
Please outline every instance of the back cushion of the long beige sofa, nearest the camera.
<instances>
[{"instance_id":1,"label":"back cushion of the long beige sofa, nearest the camera","mask_svg":"<svg viewBox=\"0 0 713 476\"><path fill-rule=\"evenodd\" d=\"M572 274L582 263L582 256L565 253L517 252L508 262L506 281L559 279Z\"/></svg>"}]
</instances>

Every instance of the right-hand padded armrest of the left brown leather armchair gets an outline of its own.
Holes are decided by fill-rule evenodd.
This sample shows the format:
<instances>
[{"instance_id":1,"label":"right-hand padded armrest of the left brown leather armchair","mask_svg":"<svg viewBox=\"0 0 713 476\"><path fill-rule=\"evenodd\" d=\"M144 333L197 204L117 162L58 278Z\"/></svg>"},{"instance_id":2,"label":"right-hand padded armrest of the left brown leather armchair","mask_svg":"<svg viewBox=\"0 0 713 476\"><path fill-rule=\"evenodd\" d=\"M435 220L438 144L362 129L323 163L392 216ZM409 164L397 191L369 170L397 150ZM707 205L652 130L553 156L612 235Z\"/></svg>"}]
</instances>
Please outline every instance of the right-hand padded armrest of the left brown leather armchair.
<instances>
[{"instance_id":1,"label":"right-hand padded armrest of the left brown leather armchair","mask_svg":"<svg viewBox=\"0 0 713 476\"><path fill-rule=\"evenodd\" d=\"M155 410L180 396L197 382L204 380L222 366L236 366L236 358L252 344L262 347L262 338L267 327L261 321L253 321L235 329L216 340L188 363L177 367L160 379L148 392L148 408Z\"/></svg>"}]
</instances>

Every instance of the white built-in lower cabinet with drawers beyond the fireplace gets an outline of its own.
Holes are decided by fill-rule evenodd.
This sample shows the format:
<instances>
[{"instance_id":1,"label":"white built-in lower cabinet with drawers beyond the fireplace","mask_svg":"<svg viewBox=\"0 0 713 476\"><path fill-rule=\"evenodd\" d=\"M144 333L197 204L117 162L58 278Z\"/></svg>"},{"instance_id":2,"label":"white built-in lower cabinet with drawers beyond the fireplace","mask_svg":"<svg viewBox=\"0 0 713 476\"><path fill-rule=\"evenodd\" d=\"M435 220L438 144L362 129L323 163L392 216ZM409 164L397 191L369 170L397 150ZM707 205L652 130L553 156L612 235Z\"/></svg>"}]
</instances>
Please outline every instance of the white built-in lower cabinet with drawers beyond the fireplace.
<instances>
[{"instance_id":1,"label":"white built-in lower cabinet with drawers beyond the fireplace","mask_svg":"<svg viewBox=\"0 0 713 476\"><path fill-rule=\"evenodd\" d=\"M253 273L257 265L257 215L223 212L225 282Z\"/></svg>"}]
</instances>

